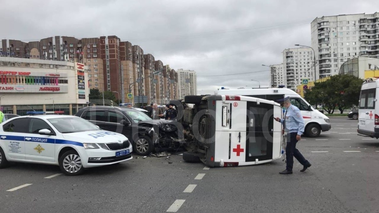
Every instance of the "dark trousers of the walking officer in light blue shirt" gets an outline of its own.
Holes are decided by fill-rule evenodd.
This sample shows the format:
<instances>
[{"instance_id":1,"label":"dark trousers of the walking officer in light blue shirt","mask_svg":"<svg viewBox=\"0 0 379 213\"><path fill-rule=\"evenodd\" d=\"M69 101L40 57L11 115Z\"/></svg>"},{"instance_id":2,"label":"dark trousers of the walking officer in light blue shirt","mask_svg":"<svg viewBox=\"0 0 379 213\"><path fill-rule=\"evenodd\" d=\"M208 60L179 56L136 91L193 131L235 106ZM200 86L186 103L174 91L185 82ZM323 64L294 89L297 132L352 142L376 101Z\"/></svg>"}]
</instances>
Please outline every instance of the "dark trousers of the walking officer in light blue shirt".
<instances>
[{"instance_id":1,"label":"dark trousers of the walking officer in light blue shirt","mask_svg":"<svg viewBox=\"0 0 379 213\"><path fill-rule=\"evenodd\" d=\"M309 164L309 161L305 160L304 156L300 153L300 151L296 149L296 143L298 143L298 140L296 140L296 135L298 135L298 133L296 132L291 132L287 134L287 146L285 148L285 154L287 160L286 169L288 171L292 171L293 157L295 157L296 160L298 160L303 166Z\"/></svg>"}]
</instances>

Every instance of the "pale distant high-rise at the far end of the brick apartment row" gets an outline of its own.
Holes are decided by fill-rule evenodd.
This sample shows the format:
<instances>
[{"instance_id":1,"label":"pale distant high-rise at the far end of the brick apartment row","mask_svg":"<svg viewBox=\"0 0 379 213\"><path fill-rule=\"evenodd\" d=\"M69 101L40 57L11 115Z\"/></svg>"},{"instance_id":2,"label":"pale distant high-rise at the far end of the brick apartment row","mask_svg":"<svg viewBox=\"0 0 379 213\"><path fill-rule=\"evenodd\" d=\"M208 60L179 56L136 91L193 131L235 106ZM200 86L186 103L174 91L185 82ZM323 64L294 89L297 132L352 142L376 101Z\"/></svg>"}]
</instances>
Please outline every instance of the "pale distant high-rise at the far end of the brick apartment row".
<instances>
[{"instance_id":1,"label":"pale distant high-rise at the far end of the brick apartment row","mask_svg":"<svg viewBox=\"0 0 379 213\"><path fill-rule=\"evenodd\" d=\"M194 70L178 69L179 99L197 95L197 75Z\"/></svg>"}]
</instances>

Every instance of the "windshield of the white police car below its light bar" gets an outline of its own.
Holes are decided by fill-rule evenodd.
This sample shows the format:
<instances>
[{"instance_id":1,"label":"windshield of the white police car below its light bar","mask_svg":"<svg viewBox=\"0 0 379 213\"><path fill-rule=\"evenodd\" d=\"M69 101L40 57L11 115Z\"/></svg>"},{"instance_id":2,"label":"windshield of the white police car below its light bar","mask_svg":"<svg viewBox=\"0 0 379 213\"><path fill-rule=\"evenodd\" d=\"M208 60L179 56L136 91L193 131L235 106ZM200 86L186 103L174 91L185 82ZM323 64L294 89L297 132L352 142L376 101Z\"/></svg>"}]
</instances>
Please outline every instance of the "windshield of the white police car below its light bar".
<instances>
[{"instance_id":1,"label":"windshield of the white police car below its light bar","mask_svg":"<svg viewBox=\"0 0 379 213\"><path fill-rule=\"evenodd\" d=\"M47 119L60 133L73 133L99 130L89 121L80 117L60 117Z\"/></svg>"}]
</instances>

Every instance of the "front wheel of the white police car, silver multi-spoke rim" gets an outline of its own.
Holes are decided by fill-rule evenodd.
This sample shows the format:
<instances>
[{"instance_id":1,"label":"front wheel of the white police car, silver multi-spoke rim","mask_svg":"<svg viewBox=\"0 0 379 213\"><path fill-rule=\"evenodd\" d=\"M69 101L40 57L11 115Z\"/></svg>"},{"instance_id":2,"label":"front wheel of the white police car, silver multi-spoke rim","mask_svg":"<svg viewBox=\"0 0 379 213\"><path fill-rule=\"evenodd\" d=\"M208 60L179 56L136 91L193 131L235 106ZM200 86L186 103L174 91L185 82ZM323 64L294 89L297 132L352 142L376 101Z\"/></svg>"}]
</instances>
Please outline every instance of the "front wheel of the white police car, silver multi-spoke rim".
<instances>
[{"instance_id":1,"label":"front wheel of the white police car, silver multi-spoke rim","mask_svg":"<svg viewBox=\"0 0 379 213\"><path fill-rule=\"evenodd\" d=\"M81 158L75 150L69 150L59 158L59 167L65 175L80 175L84 171Z\"/></svg>"}]
</instances>

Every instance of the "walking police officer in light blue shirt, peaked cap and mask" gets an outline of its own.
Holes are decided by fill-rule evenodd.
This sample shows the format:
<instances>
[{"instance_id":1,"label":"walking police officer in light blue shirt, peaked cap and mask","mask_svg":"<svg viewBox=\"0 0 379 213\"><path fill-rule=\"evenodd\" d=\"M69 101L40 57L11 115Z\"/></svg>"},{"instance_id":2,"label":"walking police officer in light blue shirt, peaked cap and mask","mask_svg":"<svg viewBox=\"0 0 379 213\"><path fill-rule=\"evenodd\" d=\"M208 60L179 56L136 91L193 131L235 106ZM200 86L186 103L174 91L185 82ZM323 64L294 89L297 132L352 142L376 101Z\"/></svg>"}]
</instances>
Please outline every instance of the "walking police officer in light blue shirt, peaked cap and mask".
<instances>
[{"instance_id":1,"label":"walking police officer in light blue shirt, peaked cap and mask","mask_svg":"<svg viewBox=\"0 0 379 213\"><path fill-rule=\"evenodd\" d=\"M280 119L279 117L275 118L276 121L283 124L284 130L287 132L287 146L285 149L287 166L286 169L279 172L279 174L292 174L293 157L303 165L303 169L300 171L304 172L312 166L300 151L296 149L296 143L301 140L300 137L304 132L304 119L301 116L299 108L291 104L290 97L279 99L277 102L287 109L284 113L283 119Z\"/></svg>"}]
</instances>

